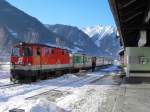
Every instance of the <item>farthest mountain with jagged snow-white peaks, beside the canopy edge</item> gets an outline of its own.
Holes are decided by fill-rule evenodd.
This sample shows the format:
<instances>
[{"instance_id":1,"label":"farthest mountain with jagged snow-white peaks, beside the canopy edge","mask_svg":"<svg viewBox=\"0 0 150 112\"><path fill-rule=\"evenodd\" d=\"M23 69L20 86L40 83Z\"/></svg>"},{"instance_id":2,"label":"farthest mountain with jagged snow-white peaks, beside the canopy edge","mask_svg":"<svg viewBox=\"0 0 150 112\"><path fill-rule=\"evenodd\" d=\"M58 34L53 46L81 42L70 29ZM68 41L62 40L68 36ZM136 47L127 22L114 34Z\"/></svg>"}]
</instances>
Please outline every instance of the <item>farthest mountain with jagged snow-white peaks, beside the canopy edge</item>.
<instances>
[{"instance_id":1,"label":"farthest mountain with jagged snow-white peaks, beside the canopy edge","mask_svg":"<svg viewBox=\"0 0 150 112\"><path fill-rule=\"evenodd\" d=\"M113 26L96 25L82 29L91 40L108 56L116 58L120 43L116 38L116 28Z\"/></svg>"}]
</instances>

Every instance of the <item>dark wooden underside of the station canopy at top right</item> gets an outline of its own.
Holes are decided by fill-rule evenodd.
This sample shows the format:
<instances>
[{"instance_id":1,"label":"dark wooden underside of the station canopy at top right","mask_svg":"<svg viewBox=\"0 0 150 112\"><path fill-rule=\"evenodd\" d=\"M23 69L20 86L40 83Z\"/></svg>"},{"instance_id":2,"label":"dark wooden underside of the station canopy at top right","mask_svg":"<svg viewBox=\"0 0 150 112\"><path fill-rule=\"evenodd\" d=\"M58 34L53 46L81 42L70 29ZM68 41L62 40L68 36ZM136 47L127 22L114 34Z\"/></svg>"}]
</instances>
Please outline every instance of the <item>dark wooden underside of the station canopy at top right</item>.
<instances>
[{"instance_id":1,"label":"dark wooden underside of the station canopy at top right","mask_svg":"<svg viewBox=\"0 0 150 112\"><path fill-rule=\"evenodd\" d=\"M142 31L144 46L150 46L150 0L109 0L109 4L124 47L138 46Z\"/></svg>"}]
</instances>

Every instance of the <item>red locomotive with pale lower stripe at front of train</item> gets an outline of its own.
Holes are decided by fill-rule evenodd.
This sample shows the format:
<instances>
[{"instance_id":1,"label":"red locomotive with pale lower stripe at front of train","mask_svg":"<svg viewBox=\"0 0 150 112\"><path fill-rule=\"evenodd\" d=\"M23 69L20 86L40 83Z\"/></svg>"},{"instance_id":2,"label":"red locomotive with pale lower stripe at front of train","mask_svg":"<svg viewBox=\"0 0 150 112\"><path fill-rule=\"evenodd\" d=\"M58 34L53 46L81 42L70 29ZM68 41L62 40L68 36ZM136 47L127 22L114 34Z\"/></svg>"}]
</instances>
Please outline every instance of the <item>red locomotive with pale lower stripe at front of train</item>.
<instances>
[{"instance_id":1,"label":"red locomotive with pale lower stripe at front of train","mask_svg":"<svg viewBox=\"0 0 150 112\"><path fill-rule=\"evenodd\" d=\"M11 56L11 80L47 78L50 72L70 67L69 51L41 44L21 43ZM30 77L30 78L29 78Z\"/></svg>"}]
</instances>

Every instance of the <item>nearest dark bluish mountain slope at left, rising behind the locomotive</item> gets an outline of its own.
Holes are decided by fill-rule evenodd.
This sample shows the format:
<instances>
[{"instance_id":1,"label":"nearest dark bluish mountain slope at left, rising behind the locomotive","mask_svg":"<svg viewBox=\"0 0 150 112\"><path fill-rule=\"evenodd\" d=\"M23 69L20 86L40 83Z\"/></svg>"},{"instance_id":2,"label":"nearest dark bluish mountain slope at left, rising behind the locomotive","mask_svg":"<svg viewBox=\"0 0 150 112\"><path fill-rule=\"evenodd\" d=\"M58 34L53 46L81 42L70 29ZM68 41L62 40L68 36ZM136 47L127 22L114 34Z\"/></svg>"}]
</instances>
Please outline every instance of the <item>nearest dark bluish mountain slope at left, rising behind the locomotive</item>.
<instances>
[{"instance_id":1,"label":"nearest dark bluish mountain slope at left, rising behind the locomotive","mask_svg":"<svg viewBox=\"0 0 150 112\"><path fill-rule=\"evenodd\" d=\"M69 41L48 30L38 19L0 0L0 61L9 61L11 48L20 42L56 45L77 50Z\"/></svg>"}]
</instances>

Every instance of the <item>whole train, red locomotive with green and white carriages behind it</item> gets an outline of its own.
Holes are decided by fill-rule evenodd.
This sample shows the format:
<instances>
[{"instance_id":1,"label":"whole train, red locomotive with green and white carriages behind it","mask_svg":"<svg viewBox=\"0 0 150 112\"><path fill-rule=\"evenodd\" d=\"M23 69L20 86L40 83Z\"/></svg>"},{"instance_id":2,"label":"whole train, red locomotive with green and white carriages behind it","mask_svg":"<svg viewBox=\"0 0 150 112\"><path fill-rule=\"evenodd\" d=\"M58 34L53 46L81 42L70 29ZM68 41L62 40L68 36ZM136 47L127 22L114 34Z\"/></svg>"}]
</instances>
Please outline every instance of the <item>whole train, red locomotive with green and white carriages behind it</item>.
<instances>
[{"instance_id":1,"label":"whole train, red locomotive with green and white carriages behind it","mask_svg":"<svg viewBox=\"0 0 150 112\"><path fill-rule=\"evenodd\" d=\"M112 59L108 57L72 53L67 49L43 44L20 43L12 49L10 80L33 82L68 72L78 72L80 69L111 64Z\"/></svg>"}]
</instances>

